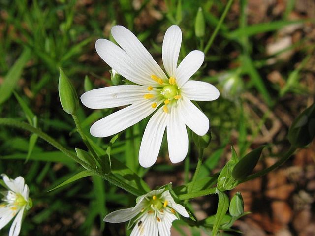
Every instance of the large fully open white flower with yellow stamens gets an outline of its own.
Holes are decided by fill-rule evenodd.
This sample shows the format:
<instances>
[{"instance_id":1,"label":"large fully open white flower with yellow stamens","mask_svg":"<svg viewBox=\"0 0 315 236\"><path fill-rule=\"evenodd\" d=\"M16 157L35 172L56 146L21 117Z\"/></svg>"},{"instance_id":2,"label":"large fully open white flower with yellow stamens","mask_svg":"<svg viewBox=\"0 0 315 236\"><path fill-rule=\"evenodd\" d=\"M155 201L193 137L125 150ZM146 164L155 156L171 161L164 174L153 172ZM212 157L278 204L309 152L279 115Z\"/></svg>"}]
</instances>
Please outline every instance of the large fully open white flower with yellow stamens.
<instances>
[{"instance_id":1,"label":"large fully open white flower with yellow stamens","mask_svg":"<svg viewBox=\"0 0 315 236\"><path fill-rule=\"evenodd\" d=\"M171 26L162 45L166 76L132 32L123 26L114 26L111 32L120 47L109 40L98 39L96 51L110 67L137 85L94 89L81 96L82 103L94 109L131 104L96 121L91 134L95 137L116 134L157 110L141 141L141 166L150 167L156 162L165 128L170 160L173 163L184 160L188 152L186 125L201 136L209 129L209 119L190 100L212 101L219 97L213 85L189 80L203 63L203 52L190 52L177 67L182 32L178 26Z\"/></svg>"}]
</instances>

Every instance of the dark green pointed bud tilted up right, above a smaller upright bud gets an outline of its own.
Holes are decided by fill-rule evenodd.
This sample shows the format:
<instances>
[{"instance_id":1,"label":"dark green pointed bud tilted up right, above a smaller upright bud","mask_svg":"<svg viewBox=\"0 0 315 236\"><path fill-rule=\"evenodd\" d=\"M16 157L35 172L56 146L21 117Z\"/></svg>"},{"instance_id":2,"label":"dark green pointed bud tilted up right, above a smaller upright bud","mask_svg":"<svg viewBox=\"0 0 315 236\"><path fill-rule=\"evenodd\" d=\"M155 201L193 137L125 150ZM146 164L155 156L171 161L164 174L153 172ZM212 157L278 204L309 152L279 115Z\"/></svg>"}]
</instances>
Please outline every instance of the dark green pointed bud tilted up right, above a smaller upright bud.
<instances>
[{"instance_id":1,"label":"dark green pointed bud tilted up right, above a smaller upright bud","mask_svg":"<svg viewBox=\"0 0 315 236\"><path fill-rule=\"evenodd\" d=\"M260 146L252 150L250 153L246 154L233 168L232 170L232 177L237 180L243 180L249 174L252 173L252 170L255 168L262 149L265 146Z\"/></svg>"}]
</instances>

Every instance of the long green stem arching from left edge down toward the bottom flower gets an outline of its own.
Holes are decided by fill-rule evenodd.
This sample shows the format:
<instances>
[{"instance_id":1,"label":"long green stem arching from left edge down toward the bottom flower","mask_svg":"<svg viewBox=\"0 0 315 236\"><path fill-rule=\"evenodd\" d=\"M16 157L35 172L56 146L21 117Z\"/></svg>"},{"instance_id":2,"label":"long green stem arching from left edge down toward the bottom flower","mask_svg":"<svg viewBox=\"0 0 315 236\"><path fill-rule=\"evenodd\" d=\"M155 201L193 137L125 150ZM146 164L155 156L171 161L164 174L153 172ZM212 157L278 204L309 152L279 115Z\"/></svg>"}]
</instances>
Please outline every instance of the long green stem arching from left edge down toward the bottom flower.
<instances>
[{"instance_id":1,"label":"long green stem arching from left edge down toward the bottom flower","mask_svg":"<svg viewBox=\"0 0 315 236\"><path fill-rule=\"evenodd\" d=\"M81 161L73 152L71 152L67 148L63 147L60 143L58 143L54 138L50 137L48 134L44 133L43 131L41 131L38 128L33 127L30 124L27 124L25 122L16 121L12 118L0 118L0 125L15 127L15 128L19 128L19 129L23 129L23 130L27 130L27 131L30 131L32 133L35 133L38 135L38 137L42 138L43 140L45 140L46 142L48 142L49 144L51 144L55 148L62 151L64 154L66 154L72 160L76 161L77 163L79 163L82 166L87 167L87 164L85 162ZM130 186L129 184L127 184L125 182L123 182L118 177L116 177L113 173L104 174L101 172L101 170L96 170L96 169L93 169L92 167L90 167L90 168L91 169L89 169L89 171L95 173L95 175L98 175L98 176L104 178L105 180L109 181L110 183L115 184L122 189L125 189L126 191L128 191L129 193L131 193L133 195L140 196L143 194L142 191Z\"/></svg>"}]
</instances>

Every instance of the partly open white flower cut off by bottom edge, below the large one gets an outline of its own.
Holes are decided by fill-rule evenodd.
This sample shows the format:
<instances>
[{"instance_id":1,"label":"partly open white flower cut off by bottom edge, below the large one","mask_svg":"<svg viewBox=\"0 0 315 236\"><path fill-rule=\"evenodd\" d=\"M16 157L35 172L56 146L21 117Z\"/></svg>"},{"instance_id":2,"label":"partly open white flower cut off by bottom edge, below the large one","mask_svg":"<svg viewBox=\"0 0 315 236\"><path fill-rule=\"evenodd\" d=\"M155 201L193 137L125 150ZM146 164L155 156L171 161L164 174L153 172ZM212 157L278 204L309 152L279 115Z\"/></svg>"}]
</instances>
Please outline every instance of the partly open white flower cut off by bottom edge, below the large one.
<instances>
[{"instance_id":1,"label":"partly open white flower cut off by bottom edge, below the large one","mask_svg":"<svg viewBox=\"0 0 315 236\"><path fill-rule=\"evenodd\" d=\"M153 190L137 199L135 207L109 213L104 221L134 225L130 236L170 236L172 222L179 219L178 213L189 217L185 207L175 203L165 189Z\"/></svg>"}]
</instances>

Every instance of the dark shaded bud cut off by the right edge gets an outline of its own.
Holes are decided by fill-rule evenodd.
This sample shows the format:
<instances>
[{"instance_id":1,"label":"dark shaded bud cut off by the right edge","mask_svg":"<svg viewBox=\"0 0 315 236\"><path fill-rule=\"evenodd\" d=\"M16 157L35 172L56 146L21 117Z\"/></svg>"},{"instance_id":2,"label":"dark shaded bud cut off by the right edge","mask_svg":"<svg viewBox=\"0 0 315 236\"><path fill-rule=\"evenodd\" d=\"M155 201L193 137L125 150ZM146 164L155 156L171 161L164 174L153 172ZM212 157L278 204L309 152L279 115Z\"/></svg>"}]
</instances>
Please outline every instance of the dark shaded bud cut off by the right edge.
<instances>
[{"instance_id":1,"label":"dark shaded bud cut off by the right edge","mask_svg":"<svg viewBox=\"0 0 315 236\"><path fill-rule=\"evenodd\" d=\"M288 133L288 140L296 148L312 142L315 136L315 103L294 119Z\"/></svg>"}]
</instances>

